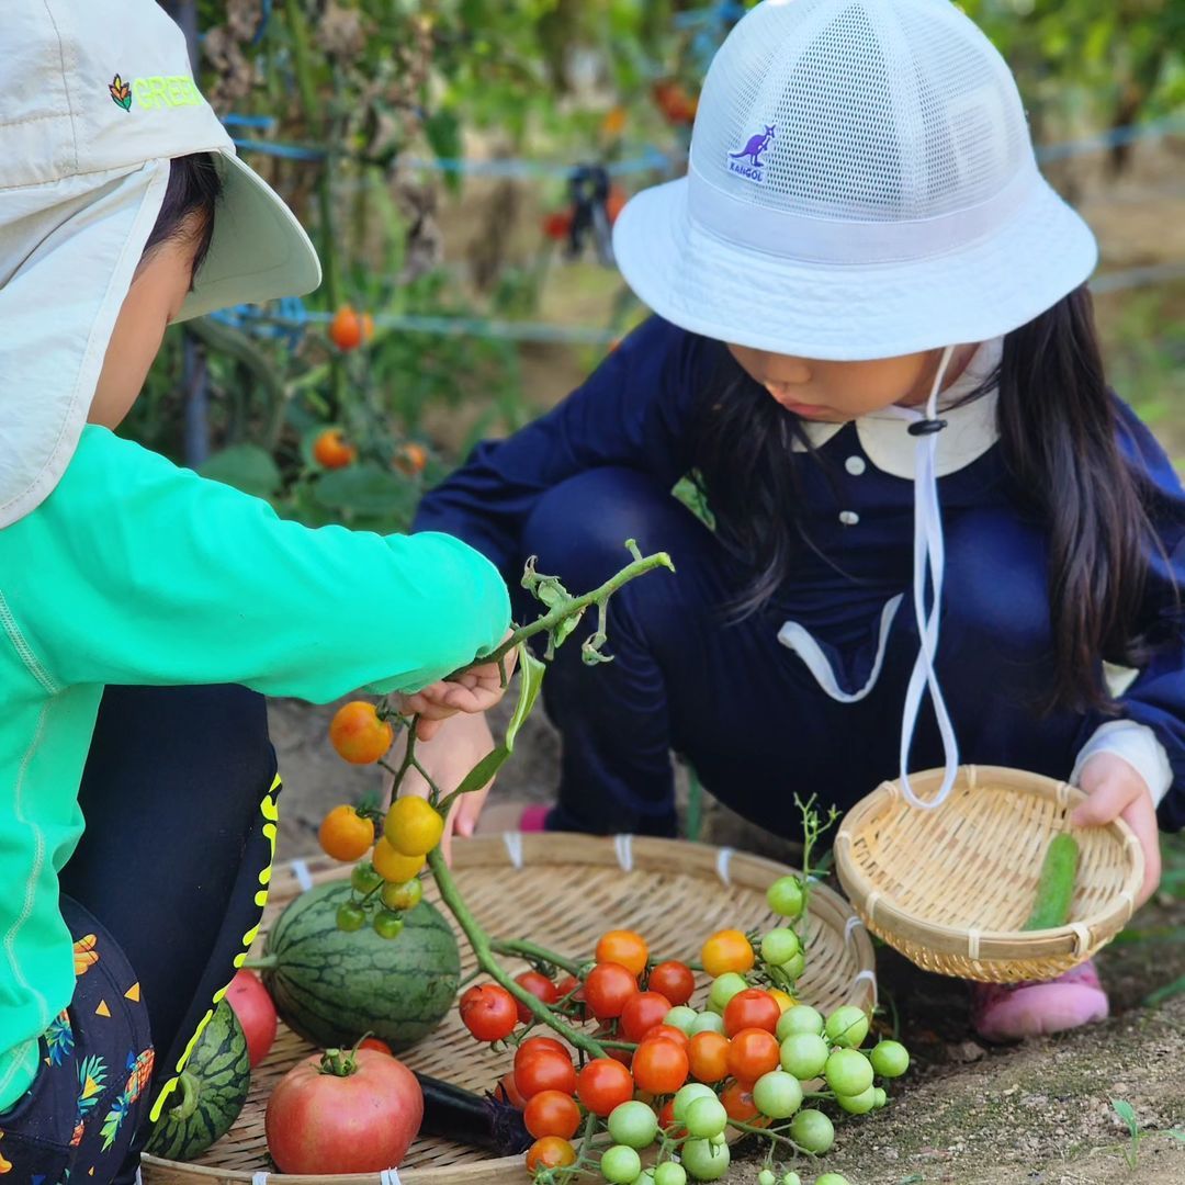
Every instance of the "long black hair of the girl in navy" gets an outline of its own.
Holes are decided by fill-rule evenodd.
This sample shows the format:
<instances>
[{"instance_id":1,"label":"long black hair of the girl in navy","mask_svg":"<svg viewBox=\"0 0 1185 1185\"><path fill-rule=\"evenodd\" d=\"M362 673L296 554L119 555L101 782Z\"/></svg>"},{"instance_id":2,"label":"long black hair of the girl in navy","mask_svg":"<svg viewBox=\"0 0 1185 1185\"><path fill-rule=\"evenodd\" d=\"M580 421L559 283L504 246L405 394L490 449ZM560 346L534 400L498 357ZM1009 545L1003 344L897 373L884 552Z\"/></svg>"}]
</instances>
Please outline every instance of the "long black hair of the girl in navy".
<instances>
[{"instance_id":1,"label":"long black hair of the girl in navy","mask_svg":"<svg viewBox=\"0 0 1185 1185\"><path fill-rule=\"evenodd\" d=\"M1008 333L998 372L965 402L997 384L1012 494L1049 540L1055 656L1042 706L1108 710L1100 659L1139 666L1149 652L1133 623L1157 537L1151 482L1117 444L1116 404L1084 284ZM722 348L690 443L719 538L751 574L730 606L736 615L768 604L789 579L795 555L812 546L796 513L799 467L788 463L796 440L809 450L802 421Z\"/></svg>"}]
</instances>

